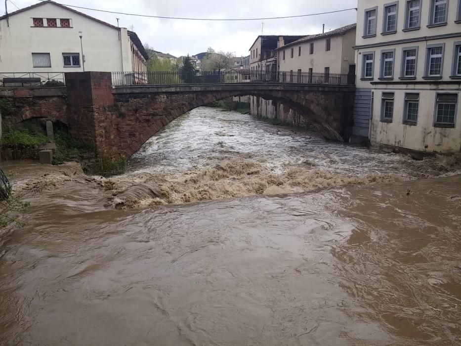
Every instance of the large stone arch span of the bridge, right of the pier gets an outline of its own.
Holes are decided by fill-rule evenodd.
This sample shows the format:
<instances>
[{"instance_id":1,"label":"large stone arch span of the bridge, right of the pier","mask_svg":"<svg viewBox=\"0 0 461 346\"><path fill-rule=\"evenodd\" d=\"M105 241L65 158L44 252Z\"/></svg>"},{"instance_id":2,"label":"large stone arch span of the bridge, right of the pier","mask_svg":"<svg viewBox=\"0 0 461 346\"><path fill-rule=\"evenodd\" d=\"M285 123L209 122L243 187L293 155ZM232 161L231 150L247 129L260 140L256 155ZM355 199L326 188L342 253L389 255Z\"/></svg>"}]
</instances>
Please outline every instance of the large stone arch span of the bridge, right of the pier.
<instances>
[{"instance_id":1,"label":"large stone arch span of the bridge, right of the pier","mask_svg":"<svg viewBox=\"0 0 461 346\"><path fill-rule=\"evenodd\" d=\"M312 91L298 95L285 90L236 89L173 92L159 92L159 90L148 93L123 89L116 90L114 93L114 108L116 114L124 119L123 125L115 121L109 128L117 131L117 136L122 139L121 143L125 141L123 148L120 148L120 153L126 157L134 154L150 137L184 113L233 96L259 96L287 105L305 115L309 122L316 125L320 133L330 140L348 140L350 134L347 124L343 124L344 120L338 116L338 109L342 111L344 100L342 97L338 98L337 92ZM348 122L350 119L345 121Z\"/></svg>"}]
</instances>

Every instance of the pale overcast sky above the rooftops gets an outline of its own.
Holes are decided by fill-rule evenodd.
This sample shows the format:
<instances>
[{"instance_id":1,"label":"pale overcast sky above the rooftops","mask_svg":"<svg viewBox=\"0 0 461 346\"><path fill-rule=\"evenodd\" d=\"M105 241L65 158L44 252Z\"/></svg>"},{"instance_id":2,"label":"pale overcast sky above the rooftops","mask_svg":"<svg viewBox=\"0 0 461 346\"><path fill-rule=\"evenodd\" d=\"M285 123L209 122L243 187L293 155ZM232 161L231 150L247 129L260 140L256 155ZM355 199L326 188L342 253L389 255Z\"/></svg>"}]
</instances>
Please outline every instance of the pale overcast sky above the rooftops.
<instances>
[{"instance_id":1,"label":"pale overcast sky above the rooftops","mask_svg":"<svg viewBox=\"0 0 461 346\"><path fill-rule=\"evenodd\" d=\"M37 3L38 0L8 0L8 12ZM62 4L125 13L168 17L260 18L334 11L357 6L357 0L55 0ZM249 54L253 41L261 34L262 21L210 22L168 20L77 10L120 26L132 28L143 43L175 56L197 54L209 46L215 50ZM356 12L346 11L295 19L264 21L264 35L308 35L356 22Z\"/></svg>"}]
</instances>

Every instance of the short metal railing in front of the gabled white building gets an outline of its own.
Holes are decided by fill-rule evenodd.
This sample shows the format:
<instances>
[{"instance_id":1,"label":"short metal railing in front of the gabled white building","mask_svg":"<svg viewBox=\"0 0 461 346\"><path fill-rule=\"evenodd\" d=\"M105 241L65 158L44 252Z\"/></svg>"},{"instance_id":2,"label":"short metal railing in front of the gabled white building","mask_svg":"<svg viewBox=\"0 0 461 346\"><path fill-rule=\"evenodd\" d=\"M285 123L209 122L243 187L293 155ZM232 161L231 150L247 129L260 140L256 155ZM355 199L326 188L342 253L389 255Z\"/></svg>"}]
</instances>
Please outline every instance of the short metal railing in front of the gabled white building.
<instances>
[{"instance_id":1,"label":"short metal railing in front of the gabled white building","mask_svg":"<svg viewBox=\"0 0 461 346\"><path fill-rule=\"evenodd\" d=\"M64 72L0 72L2 87L59 87L66 85Z\"/></svg>"}]
</instances>

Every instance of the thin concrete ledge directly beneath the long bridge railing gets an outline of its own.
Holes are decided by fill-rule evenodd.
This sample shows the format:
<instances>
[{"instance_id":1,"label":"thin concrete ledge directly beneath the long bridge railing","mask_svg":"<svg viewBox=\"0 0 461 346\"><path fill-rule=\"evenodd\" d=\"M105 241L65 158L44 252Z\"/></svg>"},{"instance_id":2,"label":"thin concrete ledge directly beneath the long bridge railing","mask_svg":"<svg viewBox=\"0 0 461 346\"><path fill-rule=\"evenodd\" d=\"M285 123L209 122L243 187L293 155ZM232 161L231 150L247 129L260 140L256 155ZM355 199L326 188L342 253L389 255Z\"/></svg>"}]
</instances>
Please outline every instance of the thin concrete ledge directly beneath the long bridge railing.
<instances>
[{"instance_id":1,"label":"thin concrete ledge directly beneath the long bridge railing","mask_svg":"<svg viewBox=\"0 0 461 346\"><path fill-rule=\"evenodd\" d=\"M171 86L133 86L114 87L113 94L135 93L167 93L167 92L200 92L200 91L330 91L344 92L355 91L355 86L329 86L329 85L303 85L303 84L265 84L265 83L240 83L240 84L202 84L202 85L171 85Z\"/></svg>"}]
</instances>

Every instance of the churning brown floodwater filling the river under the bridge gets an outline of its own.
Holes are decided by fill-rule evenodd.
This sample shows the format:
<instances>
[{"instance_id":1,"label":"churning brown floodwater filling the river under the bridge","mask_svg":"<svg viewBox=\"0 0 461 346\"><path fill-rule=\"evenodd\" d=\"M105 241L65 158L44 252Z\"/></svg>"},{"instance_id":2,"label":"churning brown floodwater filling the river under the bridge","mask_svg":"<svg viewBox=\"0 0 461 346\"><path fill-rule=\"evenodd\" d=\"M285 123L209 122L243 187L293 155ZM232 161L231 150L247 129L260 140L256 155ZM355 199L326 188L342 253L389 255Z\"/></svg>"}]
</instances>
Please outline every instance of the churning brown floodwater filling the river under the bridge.
<instances>
[{"instance_id":1,"label":"churning brown floodwater filling the river under the bridge","mask_svg":"<svg viewBox=\"0 0 461 346\"><path fill-rule=\"evenodd\" d=\"M199 108L123 176L3 169L0 345L461 345L457 156Z\"/></svg>"}]
</instances>

